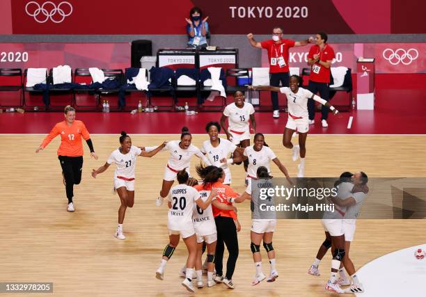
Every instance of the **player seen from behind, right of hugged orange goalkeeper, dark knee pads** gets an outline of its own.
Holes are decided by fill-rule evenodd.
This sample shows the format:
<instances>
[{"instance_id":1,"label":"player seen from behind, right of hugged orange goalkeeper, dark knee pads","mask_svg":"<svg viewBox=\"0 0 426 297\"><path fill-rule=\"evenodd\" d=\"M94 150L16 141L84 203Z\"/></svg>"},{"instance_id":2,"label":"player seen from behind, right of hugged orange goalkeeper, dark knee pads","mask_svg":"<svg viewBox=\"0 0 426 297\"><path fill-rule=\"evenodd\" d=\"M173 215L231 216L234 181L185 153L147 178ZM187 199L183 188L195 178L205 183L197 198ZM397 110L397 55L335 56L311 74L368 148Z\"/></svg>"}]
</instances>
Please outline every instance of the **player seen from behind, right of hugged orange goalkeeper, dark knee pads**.
<instances>
[{"instance_id":1,"label":"player seen from behind, right of hugged orange goalkeeper, dark knee pads","mask_svg":"<svg viewBox=\"0 0 426 297\"><path fill-rule=\"evenodd\" d=\"M262 255L260 254L260 243L263 240L263 247L267 250L269 263L271 264L269 278L267 282L274 282L278 278L278 272L275 266L275 250L272 246L272 236L276 228L275 212L261 211L260 204L266 207L274 206L275 202L271 198L260 199L260 188L274 188L274 182L269 175L268 168L260 166L257 170L258 180L252 181L252 186L246 188L246 191L239 198L230 198L229 202L243 202L246 199L251 200L252 224L251 224L251 252L253 252L253 261L255 262L256 274L252 286L255 286L266 276L262 272ZM254 184L253 184L254 183Z\"/></svg>"}]
</instances>

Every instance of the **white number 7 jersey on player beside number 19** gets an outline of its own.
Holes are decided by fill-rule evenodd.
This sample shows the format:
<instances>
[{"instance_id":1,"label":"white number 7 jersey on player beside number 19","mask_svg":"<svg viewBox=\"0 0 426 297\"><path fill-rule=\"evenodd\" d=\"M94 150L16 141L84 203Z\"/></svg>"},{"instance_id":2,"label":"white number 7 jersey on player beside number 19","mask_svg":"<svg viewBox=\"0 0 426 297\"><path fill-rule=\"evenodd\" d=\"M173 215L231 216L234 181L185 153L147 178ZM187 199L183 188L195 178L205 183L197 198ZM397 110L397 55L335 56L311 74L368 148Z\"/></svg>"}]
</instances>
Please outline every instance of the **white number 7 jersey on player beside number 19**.
<instances>
[{"instance_id":1,"label":"white number 7 jersey on player beside number 19","mask_svg":"<svg viewBox=\"0 0 426 297\"><path fill-rule=\"evenodd\" d=\"M189 168L191 157L194 154L201 159L204 158L203 153L195 145L189 145L187 150L182 150L179 143L180 141L169 141L163 149L170 151L167 165L171 169L183 170L184 168Z\"/></svg>"}]
</instances>

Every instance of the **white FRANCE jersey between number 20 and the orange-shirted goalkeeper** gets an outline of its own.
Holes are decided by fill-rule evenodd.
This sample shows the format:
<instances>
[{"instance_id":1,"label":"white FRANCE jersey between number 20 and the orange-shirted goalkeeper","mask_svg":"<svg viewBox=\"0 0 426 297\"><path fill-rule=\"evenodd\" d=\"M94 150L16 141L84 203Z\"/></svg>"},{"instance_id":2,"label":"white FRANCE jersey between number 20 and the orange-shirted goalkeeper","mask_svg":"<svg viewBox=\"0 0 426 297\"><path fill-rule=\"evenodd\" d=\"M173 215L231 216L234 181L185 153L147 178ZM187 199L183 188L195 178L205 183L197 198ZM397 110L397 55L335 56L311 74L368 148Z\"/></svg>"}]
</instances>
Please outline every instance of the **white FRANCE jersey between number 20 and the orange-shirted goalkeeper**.
<instances>
[{"instance_id":1,"label":"white FRANCE jersey between number 20 and the orange-shirted goalkeeper","mask_svg":"<svg viewBox=\"0 0 426 297\"><path fill-rule=\"evenodd\" d=\"M210 196L210 190L200 190L198 193L200 193L200 199L203 200L203 202L205 202ZM204 210L200 209L197 204L194 204L192 220L194 222L194 229L196 230L197 236L207 236L217 232L216 223L214 223L212 204Z\"/></svg>"}]
</instances>

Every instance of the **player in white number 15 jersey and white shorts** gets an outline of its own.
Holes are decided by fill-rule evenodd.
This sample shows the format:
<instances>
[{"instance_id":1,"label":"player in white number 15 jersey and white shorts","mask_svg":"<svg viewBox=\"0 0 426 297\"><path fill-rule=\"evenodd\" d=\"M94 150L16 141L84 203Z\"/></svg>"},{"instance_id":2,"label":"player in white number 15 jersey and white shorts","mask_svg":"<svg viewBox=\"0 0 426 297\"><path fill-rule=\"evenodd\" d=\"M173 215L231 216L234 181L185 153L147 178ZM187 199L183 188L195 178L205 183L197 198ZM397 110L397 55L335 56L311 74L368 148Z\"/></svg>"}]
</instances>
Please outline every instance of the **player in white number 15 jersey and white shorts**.
<instances>
[{"instance_id":1,"label":"player in white number 15 jersey and white shorts","mask_svg":"<svg viewBox=\"0 0 426 297\"><path fill-rule=\"evenodd\" d=\"M256 133L255 110L253 105L244 102L244 93L237 91L234 93L235 102L229 104L223 110L221 126L225 131L228 141L239 147L248 147L250 145L250 132ZM228 129L225 121L228 118ZM251 131L249 129L251 121ZM238 164L239 165L239 164ZM244 170L247 171L248 163L244 162Z\"/></svg>"}]
</instances>

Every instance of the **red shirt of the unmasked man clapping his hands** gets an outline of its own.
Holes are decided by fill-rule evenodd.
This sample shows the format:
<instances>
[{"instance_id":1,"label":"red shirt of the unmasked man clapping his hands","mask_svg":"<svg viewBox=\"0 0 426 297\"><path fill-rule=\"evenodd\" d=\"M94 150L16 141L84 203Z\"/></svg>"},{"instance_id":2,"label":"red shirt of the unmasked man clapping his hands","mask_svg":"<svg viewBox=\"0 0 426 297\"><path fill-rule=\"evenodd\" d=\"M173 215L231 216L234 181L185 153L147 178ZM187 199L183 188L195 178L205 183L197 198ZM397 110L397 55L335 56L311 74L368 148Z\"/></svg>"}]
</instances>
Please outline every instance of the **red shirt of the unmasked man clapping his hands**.
<instances>
[{"instance_id":1,"label":"red shirt of the unmasked man clapping his hands","mask_svg":"<svg viewBox=\"0 0 426 297\"><path fill-rule=\"evenodd\" d=\"M315 54L319 55L320 61L333 61L334 49L327 44L322 50L319 49L318 45L313 45L309 49L308 58L313 59L313 55ZM311 66L309 80L317 83L330 83L330 71L330 68L315 63Z\"/></svg>"}]
</instances>

